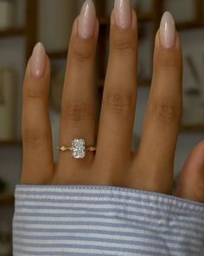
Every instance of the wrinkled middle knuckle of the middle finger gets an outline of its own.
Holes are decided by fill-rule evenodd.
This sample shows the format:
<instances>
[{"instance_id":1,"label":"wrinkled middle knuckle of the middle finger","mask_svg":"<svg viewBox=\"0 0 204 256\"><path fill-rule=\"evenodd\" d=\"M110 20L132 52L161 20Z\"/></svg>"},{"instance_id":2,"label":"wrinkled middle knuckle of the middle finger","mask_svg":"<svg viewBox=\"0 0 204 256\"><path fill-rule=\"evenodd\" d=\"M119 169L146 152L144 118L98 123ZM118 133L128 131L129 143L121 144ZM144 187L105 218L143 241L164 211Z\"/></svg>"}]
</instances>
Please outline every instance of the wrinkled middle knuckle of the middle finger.
<instances>
[{"instance_id":1,"label":"wrinkled middle knuckle of the middle finger","mask_svg":"<svg viewBox=\"0 0 204 256\"><path fill-rule=\"evenodd\" d=\"M134 108L134 95L129 91L112 90L106 96L106 107L114 115L126 115Z\"/></svg>"}]
</instances>

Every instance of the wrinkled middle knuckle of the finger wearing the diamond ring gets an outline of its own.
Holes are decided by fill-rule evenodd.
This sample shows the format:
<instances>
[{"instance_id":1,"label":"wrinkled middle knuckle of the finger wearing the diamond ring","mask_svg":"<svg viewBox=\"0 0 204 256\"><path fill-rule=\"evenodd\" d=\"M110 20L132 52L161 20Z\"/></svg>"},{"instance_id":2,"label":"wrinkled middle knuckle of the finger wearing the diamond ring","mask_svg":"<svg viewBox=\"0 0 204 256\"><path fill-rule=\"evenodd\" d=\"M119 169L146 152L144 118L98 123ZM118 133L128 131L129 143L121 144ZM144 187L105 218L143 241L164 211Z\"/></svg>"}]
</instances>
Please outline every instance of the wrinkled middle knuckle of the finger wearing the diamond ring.
<instances>
[{"instance_id":1,"label":"wrinkled middle knuckle of the finger wearing the diamond ring","mask_svg":"<svg viewBox=\"0 0 204 256\"><path fill-rule=\"evenodd\" d=\"M68 102L63 112L68 121L71 121L76 126L81 121L93 120L94 118L92 108L86 102Z\"/></svg>"}]
</instances>

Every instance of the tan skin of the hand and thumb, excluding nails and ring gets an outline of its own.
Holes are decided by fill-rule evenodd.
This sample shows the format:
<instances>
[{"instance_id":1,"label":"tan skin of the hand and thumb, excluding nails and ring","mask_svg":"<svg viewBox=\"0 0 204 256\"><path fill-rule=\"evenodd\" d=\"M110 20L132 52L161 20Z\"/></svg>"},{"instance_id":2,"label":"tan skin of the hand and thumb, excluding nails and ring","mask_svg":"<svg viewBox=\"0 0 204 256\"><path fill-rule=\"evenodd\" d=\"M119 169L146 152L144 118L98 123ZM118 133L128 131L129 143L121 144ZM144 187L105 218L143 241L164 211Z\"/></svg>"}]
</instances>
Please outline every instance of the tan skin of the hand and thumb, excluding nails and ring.
<instances>
[{"instance_id":1,"label":"tan skin of the hand and thumb, excluding nails and ring","mask_svg":"<svg viewBox=\"0 0 204 256\"><path fill-rule=\"evenodd\" d=\"M182 49L179 36L173 49L164 49L156 34L153 78L137 152L131 151L131 137L137 101L137 18L120 30L111 19L110 57L99 120L95 129L94 59L99 22L91 39L77 33L73 23L67 73L61 102L60 145L73 138L97 144L95 153L75 160L60 153L55 165L48 117L50 63L41 78L30 72L23 85L23 184L108 185L132 187L172 194L175 147L182 115ZM194 148L183 170L176 195L204 202L204 141Z\"/></svg>"}]
</instances>

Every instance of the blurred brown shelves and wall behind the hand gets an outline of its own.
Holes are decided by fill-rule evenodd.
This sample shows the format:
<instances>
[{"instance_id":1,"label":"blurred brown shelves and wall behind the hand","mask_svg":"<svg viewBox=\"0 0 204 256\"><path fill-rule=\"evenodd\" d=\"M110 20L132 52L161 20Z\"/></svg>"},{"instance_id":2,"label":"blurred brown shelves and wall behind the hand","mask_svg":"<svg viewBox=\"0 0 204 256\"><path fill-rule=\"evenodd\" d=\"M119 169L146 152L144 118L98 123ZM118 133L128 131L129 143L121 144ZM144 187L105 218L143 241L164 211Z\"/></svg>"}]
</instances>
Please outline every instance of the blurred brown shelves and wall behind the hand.
<instances>
[{"instance_id":1,"label":"blurred brown shelves and wall behind the hand","mask_svg":"<svg viewBox=\"0 0 204 256\"><path fill-rule=\"evenodd\" d=\"M164 10L175 16L182 38L183 115L175 155L175 181L183 162L204 138L204 0L132 0L139 24L138 97L133 148L137 148L150 91L154 36ZM11 255L14 188L22 169L22 80L38 41L52 63L50 116L54 146L58 144L61 90L73 19L83 0L0 0L0 256ZM99 107L108 58L113 0L95 0L100 32L96 60ZM55 161L57 154L54 153ZM176 182L175 182L176 183Z\"/></svg>"}]
</instances>

